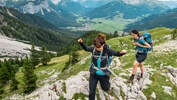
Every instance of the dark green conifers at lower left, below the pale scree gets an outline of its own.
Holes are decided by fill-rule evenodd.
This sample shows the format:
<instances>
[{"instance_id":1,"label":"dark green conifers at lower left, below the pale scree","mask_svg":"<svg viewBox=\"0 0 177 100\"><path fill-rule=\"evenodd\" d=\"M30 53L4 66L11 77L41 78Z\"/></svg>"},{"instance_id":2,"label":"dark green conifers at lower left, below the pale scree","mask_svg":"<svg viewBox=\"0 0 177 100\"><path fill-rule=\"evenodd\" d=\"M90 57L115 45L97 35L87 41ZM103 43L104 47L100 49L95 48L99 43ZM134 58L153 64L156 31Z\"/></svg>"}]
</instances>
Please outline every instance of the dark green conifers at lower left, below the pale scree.
<instances>
[{"instance_id":1,"label":"dark green conifers at lower left, below the pale scree","mask_svg":"<svg viewBox=\"0 0 177 100\"><path fill-rule=\"evenodd\" d=\"M35 66L40 63L43 66L47 65L53 55L47 51L45 46L40 51L36 50L34 44L30 52L30 55L25 58L16 57L15 59L0 61L0 98L3 97L7 89L9 92L13 92L22 87L20 92L29 94L37 88ZM19 82L16 77L16 73L20 69L23 73L23 82ZM7 85L9 85L9 88L7 88Z\"/></svg>"}]
</instances>

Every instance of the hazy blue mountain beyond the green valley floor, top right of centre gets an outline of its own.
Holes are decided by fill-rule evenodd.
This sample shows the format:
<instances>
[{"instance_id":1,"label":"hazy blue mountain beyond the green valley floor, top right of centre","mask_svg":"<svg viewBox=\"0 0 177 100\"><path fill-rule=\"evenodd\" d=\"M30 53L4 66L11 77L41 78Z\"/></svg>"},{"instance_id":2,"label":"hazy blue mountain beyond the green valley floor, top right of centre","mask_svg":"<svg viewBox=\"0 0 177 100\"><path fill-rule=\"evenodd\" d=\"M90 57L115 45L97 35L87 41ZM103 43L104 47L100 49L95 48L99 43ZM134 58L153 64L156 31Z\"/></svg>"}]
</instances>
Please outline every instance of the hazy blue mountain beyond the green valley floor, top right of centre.
<instances>
[{"instance_id":1,"label":"hazy blue mountain beyond the green valley floor, top right of centre","mask_svg":"<svg viewBox=\"0 0 177 100\"><path fill-rule=\"evenodd\" d=\"M132 2L126 2L126 0L115 0L94 9L88 16L90 18L113 18L114 16L119 15L126 19L133 19L142 17L146 14L163 12L168 9L168 7L165 7L158 2L154 3L153 1L148 0L142 1L143 2L133 4Z\"/></svg>"}]
</instances>

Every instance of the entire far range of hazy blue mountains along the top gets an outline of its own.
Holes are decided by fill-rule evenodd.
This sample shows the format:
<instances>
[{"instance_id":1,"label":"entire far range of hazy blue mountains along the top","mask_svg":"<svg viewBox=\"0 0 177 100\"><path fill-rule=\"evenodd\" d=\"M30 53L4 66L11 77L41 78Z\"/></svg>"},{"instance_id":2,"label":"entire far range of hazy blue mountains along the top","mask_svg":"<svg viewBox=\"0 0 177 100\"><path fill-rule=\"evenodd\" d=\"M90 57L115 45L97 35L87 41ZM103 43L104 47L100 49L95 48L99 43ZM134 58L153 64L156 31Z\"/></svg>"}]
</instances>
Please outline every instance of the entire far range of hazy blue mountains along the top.
<instances>
[{"instance_id":1,"label":"entire far range of hazy blue mountains along the top","mask_svg":"<svg viewBox=\"0 0 177 100\"><path fill-rule=\"evenodd\" d=\"M1 6L40 16L56 27L81 27L86 18L137 18L168 9L157 0L1 0ZM87 22L85 22L87 23Z\"/></svg>"}]
</instances>

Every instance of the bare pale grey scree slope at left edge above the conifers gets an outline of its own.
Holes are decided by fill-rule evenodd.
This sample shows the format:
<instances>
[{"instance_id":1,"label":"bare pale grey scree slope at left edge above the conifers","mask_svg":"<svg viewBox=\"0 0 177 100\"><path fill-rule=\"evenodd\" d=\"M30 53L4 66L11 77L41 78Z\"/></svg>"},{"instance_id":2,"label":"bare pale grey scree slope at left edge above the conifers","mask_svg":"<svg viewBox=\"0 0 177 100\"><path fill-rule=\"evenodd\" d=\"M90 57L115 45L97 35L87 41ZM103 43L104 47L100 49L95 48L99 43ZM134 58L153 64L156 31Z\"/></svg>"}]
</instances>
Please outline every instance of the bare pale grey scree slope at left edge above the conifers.
<instances>
[{"instance_id":1,"label":"bare pale grey scree slope at left edge above the conifers","mask_svg":"<svg viewBox=\"0 0 177 100\"><path fill-rule=\"evenodd\" d=\"M31 45L18 42L0 34L0 60L8 58L23 58L30 54ZM39 47L36 49L39 50Z\"/></svg>"}]
</instances>

